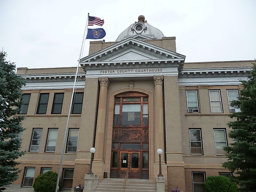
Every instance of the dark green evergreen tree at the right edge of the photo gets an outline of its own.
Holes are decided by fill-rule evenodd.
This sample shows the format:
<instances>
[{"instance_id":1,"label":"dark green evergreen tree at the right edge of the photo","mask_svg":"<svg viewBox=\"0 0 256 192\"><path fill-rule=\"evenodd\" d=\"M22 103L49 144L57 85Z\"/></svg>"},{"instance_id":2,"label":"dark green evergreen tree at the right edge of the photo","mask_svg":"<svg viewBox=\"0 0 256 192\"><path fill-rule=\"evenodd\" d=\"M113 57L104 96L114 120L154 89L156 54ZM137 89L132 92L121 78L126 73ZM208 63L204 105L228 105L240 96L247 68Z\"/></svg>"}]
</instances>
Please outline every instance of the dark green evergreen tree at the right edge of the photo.
<instances>
[{"instance_id":1,"label":"dark green evergreen tree at the right edge of the photo","mask_svg":"<svg viewBox=\"0 0 256 192\"><path fill-rule=\"evenodd\" d=\"M238 100L231 103L241 111L229 115L236 119L228 122L232 128L228 136L234 143L224 147L228 161L222 165L237 174L232 180L241 186L241 191L256 191L256 61L252 64L248 80L241 81L244 88Z\"/></svg>"}]
</instances>

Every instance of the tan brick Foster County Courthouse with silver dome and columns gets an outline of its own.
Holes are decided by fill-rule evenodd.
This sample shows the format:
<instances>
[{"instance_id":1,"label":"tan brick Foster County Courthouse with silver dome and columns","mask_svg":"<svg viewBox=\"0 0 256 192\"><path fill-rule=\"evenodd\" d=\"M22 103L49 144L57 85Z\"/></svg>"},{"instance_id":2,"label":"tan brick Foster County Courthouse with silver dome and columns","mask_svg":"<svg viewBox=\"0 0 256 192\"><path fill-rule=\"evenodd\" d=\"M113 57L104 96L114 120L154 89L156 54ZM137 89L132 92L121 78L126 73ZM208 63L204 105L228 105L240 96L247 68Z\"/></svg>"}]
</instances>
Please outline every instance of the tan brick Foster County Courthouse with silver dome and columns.
<instances>
[{"instance_id":1,"label":"tan brick Foster County Courthouse with silver dome and columns","mask_svg":"<svg viewBox=\"0 0 256 192\"><path fill-rule=\"evenodd\" d=\"M189 42L188 42L189 43ZM195 45L196 46L196 45ZM116 41L91 41L81 59L68 125L61 181L66 189L84 183L95 147L92 171L99 180L156 181L161 148L166 191L204 191L205 178L230 175L222 147L232 142L229 104L246 80L252 61L186 63L175 37L165 37L143 16ZM75 61L74 61L75 62ZM76 68L18 68L25 115L11 187L31 187L38 174L58 172ZM105 173L105 174L104 174Z\"/></svg>"}]
</instances>

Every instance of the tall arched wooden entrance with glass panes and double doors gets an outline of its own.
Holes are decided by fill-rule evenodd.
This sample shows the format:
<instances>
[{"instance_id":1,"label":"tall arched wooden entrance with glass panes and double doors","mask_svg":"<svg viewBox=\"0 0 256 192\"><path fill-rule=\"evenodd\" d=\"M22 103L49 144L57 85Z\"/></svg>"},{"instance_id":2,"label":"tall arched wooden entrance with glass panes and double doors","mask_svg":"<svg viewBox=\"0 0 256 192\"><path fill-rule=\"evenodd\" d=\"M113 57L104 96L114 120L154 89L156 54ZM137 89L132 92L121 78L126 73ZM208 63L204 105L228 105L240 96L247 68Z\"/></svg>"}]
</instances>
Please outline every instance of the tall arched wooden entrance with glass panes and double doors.
<instances>
[{"instance_id":1,"label":"tall arched wooden entrance with glass panes and double doors","mask_svg":"<svg viewBox=\"0 0 256 192\"><path fill-rule=\"evenodd\" d=\"M111 178L149 178L148 95L115 96L111 145Z\"/></svg>"}]
</instances>

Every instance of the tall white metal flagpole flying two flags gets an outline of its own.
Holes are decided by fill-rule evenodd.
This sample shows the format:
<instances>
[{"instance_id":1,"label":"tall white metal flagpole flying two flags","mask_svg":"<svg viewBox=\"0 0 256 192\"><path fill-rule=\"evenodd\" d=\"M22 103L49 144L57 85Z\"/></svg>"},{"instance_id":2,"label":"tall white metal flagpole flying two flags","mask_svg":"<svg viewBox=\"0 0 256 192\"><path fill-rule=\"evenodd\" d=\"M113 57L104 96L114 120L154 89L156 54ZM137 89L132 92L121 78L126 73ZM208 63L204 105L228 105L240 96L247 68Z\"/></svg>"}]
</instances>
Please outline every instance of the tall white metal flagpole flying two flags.
<instances>
[{"instance_id":1,"label":"tall white metal flagpole flying two flags","mask_svg":"<svg viewBox=\"0 0 256 192\"><path fill-rule=\"evenodd\" d=\"M81 54L82 54L82 48L83 48L84 40L85 40L85 33L87 32L86 29L88 27L88 16L89 16L89 13L87 15L87 21L86 21L86 25L85 25L83 41L82 41L81 50L80 50L79 59L78 59L78 64L77 64L76 73L75 73L75 81L74 81L74 85L73 85L73 91L72 91L72 96L71 96L71 101L70 101L69 111L68 111L68 119L67 119L65 134L64 134L64 138L63 138L62 153L61 153L61 158L60 158L60 166L59 166L59 171L58 171L58 179L57 179L57 183L56 183L55 192L58 192L58 189L59 189L59 181L60 181L60 174L61 174L61 167L62 167L64 148L65 148L65 143L66 143L66 136L67 136L67 131L68 131L68 123L69 123L69 118L70 118L71 109L72 109L73 97L74 97L74 92L75 92L75 84L76 84L77 74L78 74L78 70L79 70L79 64L80 64L80 59L81 59Z\"/></svg>"}]
</instances>

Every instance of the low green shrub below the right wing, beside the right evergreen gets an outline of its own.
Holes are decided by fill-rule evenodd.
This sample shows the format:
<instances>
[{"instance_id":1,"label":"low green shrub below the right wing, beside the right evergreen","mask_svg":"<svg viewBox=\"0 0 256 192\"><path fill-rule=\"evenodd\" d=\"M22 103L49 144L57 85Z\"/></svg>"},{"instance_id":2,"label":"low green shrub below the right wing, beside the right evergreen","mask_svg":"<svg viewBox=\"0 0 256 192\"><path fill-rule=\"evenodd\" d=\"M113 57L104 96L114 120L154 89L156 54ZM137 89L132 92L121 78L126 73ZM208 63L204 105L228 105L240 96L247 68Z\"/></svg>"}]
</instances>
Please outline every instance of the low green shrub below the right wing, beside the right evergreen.
<instances>
[{"instance_id":1,"label":"low green shrub below the right wing, beside the right evergreen","mask_svg":"<svg viewBox=\"0 0 256 192\"><path fill-rule=\"evenodd\" d=\"M219 192L219 191L228 191L228 192L237 192L238 187L234 184L229 178L224 176L210 176L206 178L204 184L206 192Z\"/></svg>"}]
</instances>

